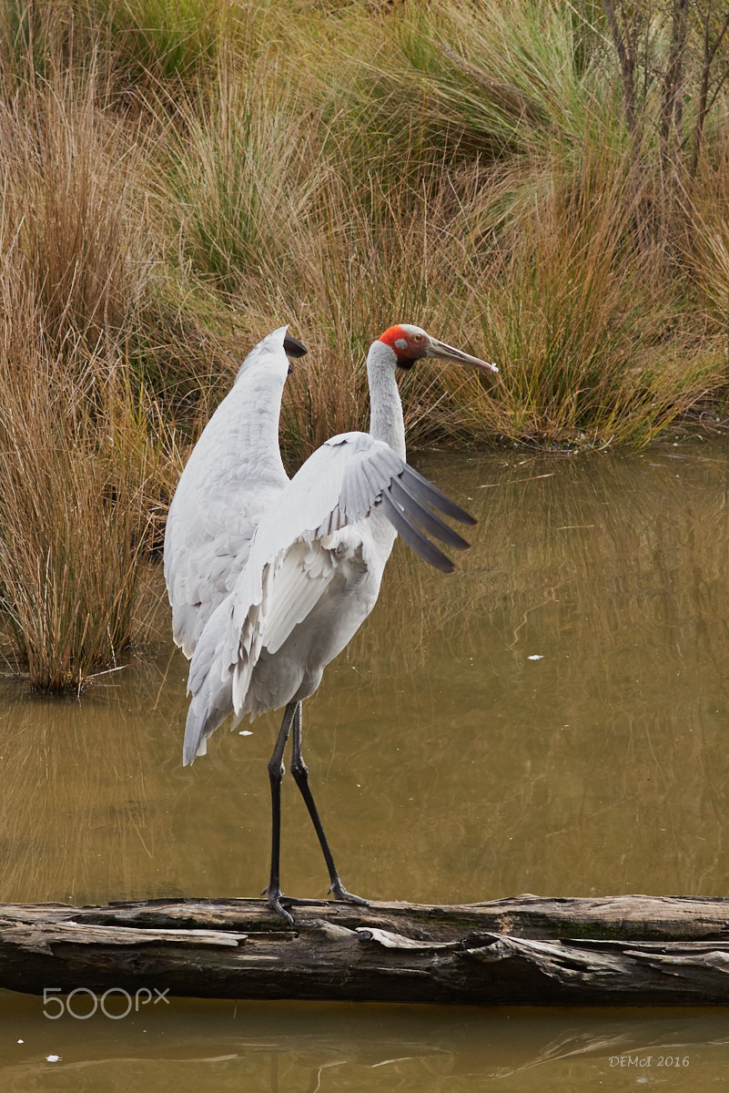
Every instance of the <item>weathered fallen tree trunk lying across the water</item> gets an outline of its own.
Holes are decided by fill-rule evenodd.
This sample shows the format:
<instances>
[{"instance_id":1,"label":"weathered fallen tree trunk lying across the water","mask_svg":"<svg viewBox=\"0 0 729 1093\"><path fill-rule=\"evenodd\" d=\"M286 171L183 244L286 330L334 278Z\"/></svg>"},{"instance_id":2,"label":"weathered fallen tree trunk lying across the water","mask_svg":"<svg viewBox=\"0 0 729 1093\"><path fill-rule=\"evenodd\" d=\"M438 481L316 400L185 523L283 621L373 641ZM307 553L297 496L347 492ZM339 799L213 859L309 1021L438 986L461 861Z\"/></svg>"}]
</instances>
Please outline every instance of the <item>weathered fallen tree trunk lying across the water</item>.
<instances>
[{"instance_id":1,"label":"weathered fallen tree trunk lying across the water","mask_svg":"<svg viewBox=\"0 0 729 1093\"><path fill-rule=\"evenodd\" d=\"M729 900L0 904L0 987L467 1004L727 1004Z\"/></svg>"}]
</instances>

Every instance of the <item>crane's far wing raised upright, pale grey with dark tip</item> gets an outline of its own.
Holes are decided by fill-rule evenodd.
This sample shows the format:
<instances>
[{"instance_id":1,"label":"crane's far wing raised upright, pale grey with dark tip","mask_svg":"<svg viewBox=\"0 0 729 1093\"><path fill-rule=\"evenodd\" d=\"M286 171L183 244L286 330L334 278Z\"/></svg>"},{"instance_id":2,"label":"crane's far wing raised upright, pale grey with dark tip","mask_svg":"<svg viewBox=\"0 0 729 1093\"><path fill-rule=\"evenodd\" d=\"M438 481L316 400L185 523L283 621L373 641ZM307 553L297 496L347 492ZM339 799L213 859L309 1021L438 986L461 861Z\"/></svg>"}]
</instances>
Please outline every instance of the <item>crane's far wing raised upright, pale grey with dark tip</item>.
<instances>
[{"instance_id":1,"label":"crane's far wing raised upright, pale grey with dark tip","mask_svg":"<svg viewBox=\"0 0 729 1093\"><path fill-rule=\"evenodd\" d=\"M249 353L182 471L165 531L172 635L191 657L234 587L264 512L287 486L278 447L287 354L306 348L274 330Z\"/></svg>"}]
</instances>

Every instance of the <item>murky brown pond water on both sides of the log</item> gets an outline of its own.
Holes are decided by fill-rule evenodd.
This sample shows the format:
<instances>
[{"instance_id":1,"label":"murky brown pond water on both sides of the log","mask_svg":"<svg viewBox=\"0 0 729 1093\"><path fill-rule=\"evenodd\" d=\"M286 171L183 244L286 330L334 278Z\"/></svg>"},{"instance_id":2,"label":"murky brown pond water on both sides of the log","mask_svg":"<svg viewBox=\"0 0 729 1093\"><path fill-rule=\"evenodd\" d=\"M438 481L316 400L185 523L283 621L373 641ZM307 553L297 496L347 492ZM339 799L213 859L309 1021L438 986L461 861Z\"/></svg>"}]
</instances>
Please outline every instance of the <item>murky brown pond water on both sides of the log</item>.
<instances>
[{"instance_id":1,"label":"murky brown pond water on both sides of the log","mask_svg":"<svg viewBox=\"0 0 729 1093\"><path fill-rule=\"evenodd\" d=\"M729 894L725 447L416 461L480 524L451 577L397 544L375 612L304 705L347 886L442 903ZM219 732L183 769L168 626L163 612L154 656L81 701L0 687L0 901L265 884L278 717ZM292 784L283 883L327 886ZM726 1080L728 1041L725 1011L172 999L55 1022L0 992L3 1091L695 1090Z\"/></svg>"}]
</instances>

